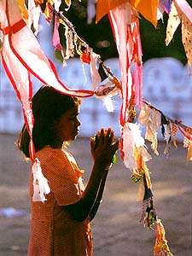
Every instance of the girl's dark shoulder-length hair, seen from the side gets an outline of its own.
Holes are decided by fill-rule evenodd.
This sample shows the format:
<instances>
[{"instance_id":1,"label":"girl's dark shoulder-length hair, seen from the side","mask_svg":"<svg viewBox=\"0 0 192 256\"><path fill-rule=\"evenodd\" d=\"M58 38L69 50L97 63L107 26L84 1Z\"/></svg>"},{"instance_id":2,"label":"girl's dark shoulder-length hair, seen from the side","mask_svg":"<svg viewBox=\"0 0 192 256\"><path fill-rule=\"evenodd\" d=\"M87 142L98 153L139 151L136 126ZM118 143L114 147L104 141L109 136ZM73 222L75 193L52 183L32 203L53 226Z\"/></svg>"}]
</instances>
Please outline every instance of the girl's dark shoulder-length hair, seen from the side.
<instances>
[{"instance_id":1,"label":"girl's dark shoulder-length hair, seen from the side","mask_svg":"<svg viewBox=\"0 0 192 256\"><path fill-rule=\"evenodd\" d=\"M49 145L54 148L54 123L67 110L80 104L80 99L76 96L68 96L55 90L49 85L43 85L32 97L32 113L34 125L32 129L32 141L35 151ZM23 125L20 132L17 146L29 157L30 136Z\"/></svg>"}]
</instances>

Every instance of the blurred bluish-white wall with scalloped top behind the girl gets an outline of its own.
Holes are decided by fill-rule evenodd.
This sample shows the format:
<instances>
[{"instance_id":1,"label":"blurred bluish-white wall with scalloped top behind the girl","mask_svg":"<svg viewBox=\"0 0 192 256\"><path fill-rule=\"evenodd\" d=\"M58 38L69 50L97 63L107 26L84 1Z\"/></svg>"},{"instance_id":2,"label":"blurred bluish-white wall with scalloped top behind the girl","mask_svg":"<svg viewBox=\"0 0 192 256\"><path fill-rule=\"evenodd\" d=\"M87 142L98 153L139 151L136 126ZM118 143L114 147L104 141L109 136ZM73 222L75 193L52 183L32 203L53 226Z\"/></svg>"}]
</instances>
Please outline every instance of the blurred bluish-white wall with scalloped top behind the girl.
<instances>
[{"instance_id":1,"label":"blurred bluish-white wall with scalloped top behind the girl","mask_svg":"<svg viewBox=\"0 0 192 256\"><path fill-rule=\"evenodd\" d=\"M51 28L42 20L43 29L38 33L38 41L45 54L55 62L59 77L69 87L91 90L90 67L84 64L84 72L79 59L67 61L67 67L54 60L53 46L51 45ZM120 79L118 59L105 61L112 72ZM23 125L20 102L15 95L9 79L3 71L0 62L0 132L18 133ZM41 86L37 79L32 78L33 91ZM151 59L143 65L143 98L155 108L172 119L182 119L183 124L192 126L192 77L188 67L172 58ZM112 126L119 136L119 108L120 99L114 97L116 108L108 113L102 101L94 96L85 98L81 107L82 121L81 136L92 136L101 126Z\"/></svg>"}]
</instances>

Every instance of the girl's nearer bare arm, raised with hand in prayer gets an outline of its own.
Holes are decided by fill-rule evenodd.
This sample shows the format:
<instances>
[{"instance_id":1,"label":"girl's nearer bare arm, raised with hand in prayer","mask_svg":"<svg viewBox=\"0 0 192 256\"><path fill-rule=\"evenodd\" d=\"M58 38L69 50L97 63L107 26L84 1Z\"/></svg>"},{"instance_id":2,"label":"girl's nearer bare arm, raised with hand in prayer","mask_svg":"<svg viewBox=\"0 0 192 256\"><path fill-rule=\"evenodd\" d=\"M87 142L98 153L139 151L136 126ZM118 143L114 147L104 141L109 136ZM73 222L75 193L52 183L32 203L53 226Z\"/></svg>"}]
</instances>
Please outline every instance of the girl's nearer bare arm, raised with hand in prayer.
<instances>
[{"instance_id":1,"label":"girl's nearer bare arm, raised with hand in prayer","mask_svg":"<svg viewBox=\"0 0 192 256\"><path fill-rule=\"evenodd\" d=\"M70 212L72 217L77 221L84 221L89 217L93 218L96 214L98 206L96 201L101 201L102 193L105 186L108 170L111 167L113 154L119 148L119 140L113 143L113 131L101 130L99 142L95 147L95 141L90 139L91 154L94 159L94 166L90 175L89 182L84 190L84 195L80 201L73 205L66 206L65 209ZM95 213L94 213L95 212Z\"/></svg>"}]
</instances>

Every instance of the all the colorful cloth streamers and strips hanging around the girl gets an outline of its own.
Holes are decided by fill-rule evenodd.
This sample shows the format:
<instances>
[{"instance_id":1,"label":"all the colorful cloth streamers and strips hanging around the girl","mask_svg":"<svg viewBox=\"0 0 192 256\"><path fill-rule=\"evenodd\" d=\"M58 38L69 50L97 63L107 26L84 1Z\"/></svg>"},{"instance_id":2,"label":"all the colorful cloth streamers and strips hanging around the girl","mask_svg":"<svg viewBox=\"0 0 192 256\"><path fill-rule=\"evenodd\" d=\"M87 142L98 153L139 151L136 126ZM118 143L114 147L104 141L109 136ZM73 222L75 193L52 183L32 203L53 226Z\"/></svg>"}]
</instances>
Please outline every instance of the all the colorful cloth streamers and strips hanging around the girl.
<instances>
[{"instance_id":1,"label":"all the colorful cloth streamers and strips hanging around the girl","mask_svg":"<svg viewBox=\"0 0 192 256\"><path fill-rule=\"evenodd\" d=\"M69 9L72 1L66 0ZM172 5L171 5L172 3ZM155 27L157 20L166 11L169 20L166 30L166 45L170 44L177 26L182 22L182 39L189 67L192 63L192 12L184 0L97 0L96 22L108 14L113 35L119 52L121 81L117 79L110 68L106 67L99 55L93 52L88 44L79 38L73 24L59 12L60 0L29 0L28 12L24 0L2 0L0 2L0 36L3 42L1 56L3 67L13 84L22 103L26 129L32 137L32 82L31 73L44 84L54 86L67 95L81 97L95 96L108 102L108 109L113 108L111 96L119 94L122 97L120 109L120 125L122 128L121 155L125 166L132 171L131 179L139 183L137 200L143 201L141 221L152 229L155 225L154 254L172 256L166 241L166 232L157 218L154 209L154 195L150 180L150 172L146 162L151 159L144 145L139 125L135 118L137 106L141 111L138 121L146 127L145 139L151 143L154 154L158 153L157 128L160 128L166 140L164 154L169 154L172 137L177 148L177 131L183 134L183 147L188 148L186 161L192 160L192 128L181 122L167 118L160 110L151 106L142 98L142 45L139 32L138 13L141 13ZM54 6L54 8L53 8ZM55 29L53 44L60 49L63 61L79 54L82 63L90 65L92 90L71 90L62 84L51 61L40 49L34 34L38 33L40 13L48 22L55 13ZM59 38L58 26L65 26L67 49L64 52ZM27 26L28 25L28 26ZM33 25L34 34L31 31ZM26 44L27 42L27 44ZM103 84L101 84L103 83ZM44 201L44 195L49 193L49 185L41 172L41 166L35 157L35 151L30 144L32 173L34 177L34 201ZM38 181L38 183L37 183Z\"/></svg>"}]
</instances>

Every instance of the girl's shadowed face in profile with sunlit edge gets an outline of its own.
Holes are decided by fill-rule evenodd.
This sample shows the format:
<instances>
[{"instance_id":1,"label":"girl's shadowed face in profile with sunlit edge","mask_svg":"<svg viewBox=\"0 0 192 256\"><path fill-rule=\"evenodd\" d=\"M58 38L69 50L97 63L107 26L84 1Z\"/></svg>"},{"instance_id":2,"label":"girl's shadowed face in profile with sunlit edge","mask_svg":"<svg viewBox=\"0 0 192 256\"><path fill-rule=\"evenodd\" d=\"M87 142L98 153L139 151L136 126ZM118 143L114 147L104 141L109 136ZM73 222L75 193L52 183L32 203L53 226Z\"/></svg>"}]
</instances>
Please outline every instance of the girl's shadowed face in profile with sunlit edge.
<instances>
[{"instance_id":1,"label":"girl's shadowed face in profile with sunlit edge","mask_svg":"<svg viewBox=\"0 0 192 256\"><path fill-rule=\"evenodd\" d=\"M74 140L79 134L79 105L69 109L61 115L61 118L55 121L55 138L60 142Z\"/></svg>"}]
</instances>

